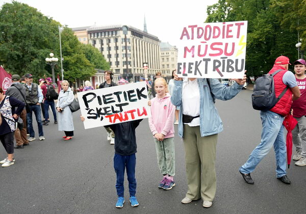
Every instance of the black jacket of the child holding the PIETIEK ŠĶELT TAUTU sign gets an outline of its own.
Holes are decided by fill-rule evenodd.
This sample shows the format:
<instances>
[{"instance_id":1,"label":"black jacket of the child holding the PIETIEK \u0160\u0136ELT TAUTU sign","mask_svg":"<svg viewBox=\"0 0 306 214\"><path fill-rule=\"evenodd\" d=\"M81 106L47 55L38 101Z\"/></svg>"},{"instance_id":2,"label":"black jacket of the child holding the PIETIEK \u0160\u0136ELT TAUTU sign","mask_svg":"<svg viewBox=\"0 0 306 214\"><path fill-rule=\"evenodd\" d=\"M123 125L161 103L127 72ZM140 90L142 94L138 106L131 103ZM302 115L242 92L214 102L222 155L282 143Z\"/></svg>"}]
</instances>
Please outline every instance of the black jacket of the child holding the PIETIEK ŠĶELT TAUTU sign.
<instances>
[{"instance_id":1,"label":"black jacket of the child holding the PIETIEK \u0160\u0136ELT TAUTU sign","mask_svg":"<svg viewBox=\"0 0 306 214\"><path fill-rule=\"evenodd\" d=\"M135 129L141 121L142 119L106 126L115 133L115 154L132 155L137 152Z\"/></svg>"}]
</instances>

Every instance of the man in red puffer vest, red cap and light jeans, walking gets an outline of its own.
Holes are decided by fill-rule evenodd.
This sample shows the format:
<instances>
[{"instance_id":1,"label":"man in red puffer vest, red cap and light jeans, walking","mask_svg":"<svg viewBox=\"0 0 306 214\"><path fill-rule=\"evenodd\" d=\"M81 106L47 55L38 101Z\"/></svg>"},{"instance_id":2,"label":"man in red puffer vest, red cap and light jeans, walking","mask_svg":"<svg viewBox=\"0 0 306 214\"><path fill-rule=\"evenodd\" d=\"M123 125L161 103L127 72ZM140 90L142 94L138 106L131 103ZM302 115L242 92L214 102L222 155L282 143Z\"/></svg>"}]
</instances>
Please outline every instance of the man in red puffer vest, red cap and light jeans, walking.
<instances>
[{"instance_id":1,"label":"man in red puffer vest, red cap and light jeans, walking","mask_svg":"<svg viewBox=\"0 0 306 214\"><path fill-rule=\"evenodd\" d=\"M248 184L253 184L250 173L255 170L260 161L268 154L274 146L276 158L276 178L286 184L291 181L287 177L286 164L286 141L284 135L284 116L290 113L292 100L297 100L300 97L300 91L296 84L294 74L288 70L289 58L279 56L276 58L274 66L269 74L273 74L276 70L280 72L273 76L275 96L279 97L284 93L281 99L270 110L261 110L260 116L262 120L261 144L259 144L250 154L246 163L240 167L239 172L243 179Z\"/></svg>"}]
</instances>

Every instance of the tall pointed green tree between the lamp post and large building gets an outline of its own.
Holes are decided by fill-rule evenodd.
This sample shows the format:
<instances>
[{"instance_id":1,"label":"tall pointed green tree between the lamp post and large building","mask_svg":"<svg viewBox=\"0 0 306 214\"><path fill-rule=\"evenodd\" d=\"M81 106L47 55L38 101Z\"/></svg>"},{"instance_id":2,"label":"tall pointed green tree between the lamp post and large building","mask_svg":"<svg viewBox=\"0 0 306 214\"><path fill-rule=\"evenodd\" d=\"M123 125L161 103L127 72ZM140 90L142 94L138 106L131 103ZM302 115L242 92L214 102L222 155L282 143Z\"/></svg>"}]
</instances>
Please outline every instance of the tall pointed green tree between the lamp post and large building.
<instances>
[{"instance_id":1,"label":"tall pointed green tree between the lamp post and large building","mask_svg":"<svg viewBox=\"0 0 306 214\"><path fill-rule=\"evenodd\" d=\"M86 58L81 42L70 28L65 27L61 32L64 79L86 80L95 74L94 65Z\"/></svg>"}]
</instances>

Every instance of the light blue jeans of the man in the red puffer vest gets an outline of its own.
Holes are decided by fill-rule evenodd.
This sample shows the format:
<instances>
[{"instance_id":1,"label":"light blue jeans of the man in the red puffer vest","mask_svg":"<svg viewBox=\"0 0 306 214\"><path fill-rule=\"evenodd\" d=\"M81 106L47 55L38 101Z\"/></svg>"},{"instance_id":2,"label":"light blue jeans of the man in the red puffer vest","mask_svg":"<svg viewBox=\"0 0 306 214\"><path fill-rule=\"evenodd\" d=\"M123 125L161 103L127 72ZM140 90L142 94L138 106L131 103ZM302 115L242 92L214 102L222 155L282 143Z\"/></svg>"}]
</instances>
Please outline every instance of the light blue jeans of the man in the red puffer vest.
<instances>
[{"instance_id":1,"label":"light blue jeans of the man in the red puffer vest","mask_svg":"<svg viewBox=\"0 0 306 214\"><path fill-rule=\"evenodd\" d=\"M276 177L286 175L286 142L284 136L284 117L272 111L261 111L262 135L261 144L258 145L250 154L248 160L239 171L244 174L251 173L255 170L259 162L268 154L274 146L276 158Z\"/></svg>"}]
</instances>

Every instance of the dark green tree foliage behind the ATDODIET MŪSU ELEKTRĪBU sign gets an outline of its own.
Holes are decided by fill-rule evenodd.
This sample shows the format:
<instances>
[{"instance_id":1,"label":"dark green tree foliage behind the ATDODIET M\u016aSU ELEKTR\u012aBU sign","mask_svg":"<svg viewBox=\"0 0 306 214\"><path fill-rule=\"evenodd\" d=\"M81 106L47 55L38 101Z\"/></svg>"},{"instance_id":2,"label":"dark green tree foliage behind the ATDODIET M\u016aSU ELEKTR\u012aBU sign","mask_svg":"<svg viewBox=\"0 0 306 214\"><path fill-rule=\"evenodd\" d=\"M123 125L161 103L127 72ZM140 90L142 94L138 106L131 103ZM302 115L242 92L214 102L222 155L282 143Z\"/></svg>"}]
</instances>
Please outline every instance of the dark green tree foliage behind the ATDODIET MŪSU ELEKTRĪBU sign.
<instances>
[{"instance_id":1,"label":"dark green tree foliage behind the ATDODIET M\u016aSU ELEKTR\u012aBU sign","mask_svg":"<svg viewBox=\"0 0 306 214\"><path fill-rule=\"evenodd\" d=\"M206 22L247 20L247 75L261 76L269 72L275 58L280 55L288 56L291 61L297 59L295 38L297 30L306 28L305 17L301 16L300 10L304 8L305 11L305 7L306 0L219 0L208 8Z\"/></svg>"}]
</instances>

